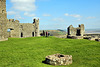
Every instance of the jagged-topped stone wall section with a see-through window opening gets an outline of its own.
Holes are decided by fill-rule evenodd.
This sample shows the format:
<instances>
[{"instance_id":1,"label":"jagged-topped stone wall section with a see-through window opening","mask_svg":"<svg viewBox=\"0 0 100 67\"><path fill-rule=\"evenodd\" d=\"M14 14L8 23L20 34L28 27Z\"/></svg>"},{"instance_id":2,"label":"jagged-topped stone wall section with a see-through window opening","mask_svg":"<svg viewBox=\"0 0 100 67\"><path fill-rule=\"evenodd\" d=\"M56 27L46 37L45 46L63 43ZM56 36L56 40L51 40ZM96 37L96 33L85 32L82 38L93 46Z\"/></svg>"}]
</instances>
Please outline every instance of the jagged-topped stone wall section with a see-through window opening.
<instances>
[{"instance_id":1,"label":"jagged-topped stone wall section with a see-through window opening","mask_svg":"<svg viewBox=\"0 0 100 67\"><path fill-rule=\"evenodd\" d=\"M19 21L14 19L9 19L7 22L7 29L10 29L10 32L8 32L8 37L14 37L19 38L20 37L20 29L19 29Z\"/></svg>"}]
</instances>

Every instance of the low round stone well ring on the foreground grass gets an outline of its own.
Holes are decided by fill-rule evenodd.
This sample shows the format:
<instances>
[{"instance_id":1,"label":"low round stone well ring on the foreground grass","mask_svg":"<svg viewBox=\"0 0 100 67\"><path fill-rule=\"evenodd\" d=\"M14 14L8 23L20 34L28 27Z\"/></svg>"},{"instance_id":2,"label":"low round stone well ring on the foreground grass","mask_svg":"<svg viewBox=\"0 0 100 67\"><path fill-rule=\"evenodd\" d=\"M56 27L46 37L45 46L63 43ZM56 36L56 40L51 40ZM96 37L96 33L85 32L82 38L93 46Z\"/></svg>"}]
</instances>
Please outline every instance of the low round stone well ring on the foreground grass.
<instances>
[{"instance_id":1,"label":"low round stone well ring on the foreground grass","mask_svg":"<svg viewBox=\"0 0 100 67\"><path fill-rule=\"evenodd\" d=\"M72 55L54 54L46 56L45 62L50 65L72 64Z\"/></svg>"}]
</instances>

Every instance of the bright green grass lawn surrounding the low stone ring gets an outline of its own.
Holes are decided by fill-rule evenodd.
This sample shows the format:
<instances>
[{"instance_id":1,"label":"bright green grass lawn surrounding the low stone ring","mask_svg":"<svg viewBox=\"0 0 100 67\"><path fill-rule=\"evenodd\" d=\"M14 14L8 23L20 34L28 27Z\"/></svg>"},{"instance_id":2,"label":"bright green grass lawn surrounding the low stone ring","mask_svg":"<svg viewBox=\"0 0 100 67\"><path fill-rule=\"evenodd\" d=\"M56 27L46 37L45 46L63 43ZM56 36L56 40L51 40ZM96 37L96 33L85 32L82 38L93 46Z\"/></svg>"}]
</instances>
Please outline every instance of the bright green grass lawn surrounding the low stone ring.
<instances>
[{"instance_id":1,"label":"bright green grass lawn surrounding the low stone ring","mask_svg":"<svg viewBox=\"0 0 100 67\"><path fill-rule=\"evenodd\" d=\"M69 66L42 63L48 55L73 56ZM55 37L9 38L0 42L0 67L100 67L100 42Z\"/></svg>"}]
</instances>

